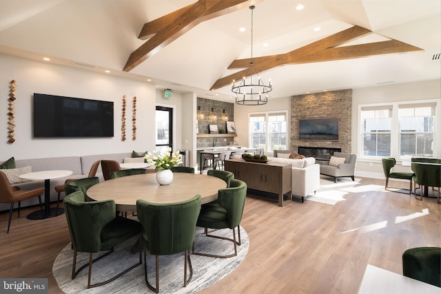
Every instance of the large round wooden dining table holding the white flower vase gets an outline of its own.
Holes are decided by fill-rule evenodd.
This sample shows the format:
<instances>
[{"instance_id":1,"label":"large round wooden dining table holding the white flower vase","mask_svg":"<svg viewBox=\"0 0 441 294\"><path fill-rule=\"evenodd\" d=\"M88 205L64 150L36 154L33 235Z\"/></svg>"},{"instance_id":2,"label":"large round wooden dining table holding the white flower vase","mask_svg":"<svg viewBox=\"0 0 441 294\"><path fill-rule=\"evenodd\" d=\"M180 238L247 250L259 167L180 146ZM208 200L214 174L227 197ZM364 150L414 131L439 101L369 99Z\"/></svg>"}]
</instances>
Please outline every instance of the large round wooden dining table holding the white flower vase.
<instances>
[{"instance_id":1,"label":"large round wooden dining table holding the white flower vase","mask_svg":"<svg viewBox=\"0 0 441 294\"><path fill-rule=\"evenodd\" d=\"M189 173L173 173L170 185L159 185L156 174L124 176L100 182L87 191L93 200L114 200L119 211L136 211L136 200L153 203L174 203L201 195L202 204L217 199L218 190L227 183L214 176Z\"/></svg>"}]
</instances>

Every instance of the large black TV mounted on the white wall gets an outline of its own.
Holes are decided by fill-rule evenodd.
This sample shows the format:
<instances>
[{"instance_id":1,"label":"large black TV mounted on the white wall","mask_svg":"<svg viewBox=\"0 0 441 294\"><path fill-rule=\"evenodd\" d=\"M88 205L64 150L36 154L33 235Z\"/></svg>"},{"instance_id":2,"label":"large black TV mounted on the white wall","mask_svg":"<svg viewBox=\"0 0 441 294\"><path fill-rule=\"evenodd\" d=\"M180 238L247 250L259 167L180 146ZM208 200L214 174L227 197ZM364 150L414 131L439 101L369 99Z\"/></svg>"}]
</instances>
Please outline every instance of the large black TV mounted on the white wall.
<instances>
[{"instance_id":1,"label":"large black TV mounted on the white wall","mask_svg":"<svg viewBox=\"0 0 441 294\"><path fill-rule=\"evenodd\" d=\"M34 93L34 138L113 137L113 102Z\"/></svg>"}]
</instances>

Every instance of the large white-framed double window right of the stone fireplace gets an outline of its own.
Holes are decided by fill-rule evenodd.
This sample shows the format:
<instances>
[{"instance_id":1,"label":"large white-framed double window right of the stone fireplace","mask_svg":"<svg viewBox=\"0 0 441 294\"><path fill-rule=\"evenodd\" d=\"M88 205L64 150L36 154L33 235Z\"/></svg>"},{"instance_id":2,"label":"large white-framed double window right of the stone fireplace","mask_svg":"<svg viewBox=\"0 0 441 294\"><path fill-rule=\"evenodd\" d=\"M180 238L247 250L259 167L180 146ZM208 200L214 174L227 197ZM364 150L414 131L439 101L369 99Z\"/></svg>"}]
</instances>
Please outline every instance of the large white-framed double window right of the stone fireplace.
<instances>
[{"instance_id":1,"label":"large white-framed double window right of the stone fireplace","mask_svg":"<svg viewBox=\"0 0 441 294\"><path fill-rule=\"evenodd\" d=\"M436 112L433 101L360 105L360 151L364 158L435 156ZM440 118L438 118L439 120Z\"/></svg>"}]
</instances>

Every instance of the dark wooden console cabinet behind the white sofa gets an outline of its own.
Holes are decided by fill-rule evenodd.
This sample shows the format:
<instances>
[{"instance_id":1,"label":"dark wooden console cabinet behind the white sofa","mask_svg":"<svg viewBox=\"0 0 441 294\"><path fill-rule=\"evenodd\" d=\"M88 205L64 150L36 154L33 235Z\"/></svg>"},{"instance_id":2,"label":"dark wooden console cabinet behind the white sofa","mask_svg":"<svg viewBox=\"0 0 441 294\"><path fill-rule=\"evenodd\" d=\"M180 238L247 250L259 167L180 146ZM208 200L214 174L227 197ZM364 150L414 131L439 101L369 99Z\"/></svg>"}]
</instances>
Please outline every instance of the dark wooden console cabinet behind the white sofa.
<instances>
[{"instance_id":1,"label":"dark wooden console cabinet behind the white sofa","mask_svg":"<svg viewBox=\"0 0 441 294\"><path fill-rule=\"evenodd\" d=\"M225 160L225 170L232 171L234 178L246 182L249 189L277 194L281 207L292 200L291 167L289 163L281 162L247 162L240 158ZM284 199L286 193L288 197Z\"/></svg>"}]
</instances>

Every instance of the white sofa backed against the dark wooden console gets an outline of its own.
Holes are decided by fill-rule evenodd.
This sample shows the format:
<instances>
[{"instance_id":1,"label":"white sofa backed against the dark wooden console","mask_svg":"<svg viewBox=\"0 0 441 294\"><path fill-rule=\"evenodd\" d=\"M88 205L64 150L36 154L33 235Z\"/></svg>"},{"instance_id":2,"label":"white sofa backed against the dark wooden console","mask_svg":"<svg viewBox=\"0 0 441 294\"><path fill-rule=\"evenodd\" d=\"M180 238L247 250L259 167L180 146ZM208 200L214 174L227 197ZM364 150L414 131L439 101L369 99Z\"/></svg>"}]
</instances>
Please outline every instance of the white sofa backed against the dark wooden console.
<instances>
[{"instance_id":1,"label":"white sofa backed against the dark wooden console","mask_svg":"<svg viewBox=\"0 0 441 294\"><path fill-rule=\"evenodd\" d=\"M285 154L287 151L284 152ZM279 152L274 152L274 155L280 156ZM310 194L315 194L320 188L320 165L316 163L314 157L307 157L303 159L291 159L281 157L269 157L272 162L285 162L292 165L291 171L291 193L293 196L300 197L305 200L305 197Z\"/></svg>"}]
</instances>

